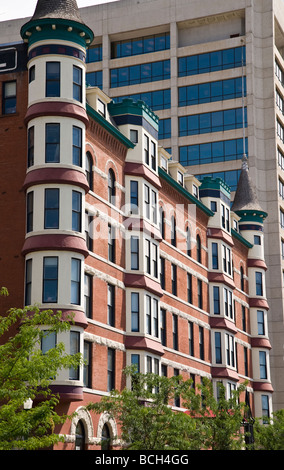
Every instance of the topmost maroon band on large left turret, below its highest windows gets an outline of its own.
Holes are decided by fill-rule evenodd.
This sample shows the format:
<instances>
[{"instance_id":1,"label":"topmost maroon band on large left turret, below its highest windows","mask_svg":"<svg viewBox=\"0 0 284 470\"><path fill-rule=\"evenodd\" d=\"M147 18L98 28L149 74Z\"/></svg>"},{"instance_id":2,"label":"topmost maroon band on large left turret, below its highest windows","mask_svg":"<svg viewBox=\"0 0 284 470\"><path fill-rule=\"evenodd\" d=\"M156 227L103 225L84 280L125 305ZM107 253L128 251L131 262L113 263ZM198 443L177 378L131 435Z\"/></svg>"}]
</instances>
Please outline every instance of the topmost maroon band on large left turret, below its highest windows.
<instances>
[{"instance_id":1,"label":"topmost maroon band on large left turret, below its highest windows","mask_svg":"<svg viewBox=\"0 0 284 470\"><path fill-rule=\"evenodd\" d=\"M41 101L32 104L26 113L25 124L27 125L31 119L42 116L71 117L82 121L86 127L89 124L87 112L82 106L64 101Z\"/></svg>"}]
</instances>

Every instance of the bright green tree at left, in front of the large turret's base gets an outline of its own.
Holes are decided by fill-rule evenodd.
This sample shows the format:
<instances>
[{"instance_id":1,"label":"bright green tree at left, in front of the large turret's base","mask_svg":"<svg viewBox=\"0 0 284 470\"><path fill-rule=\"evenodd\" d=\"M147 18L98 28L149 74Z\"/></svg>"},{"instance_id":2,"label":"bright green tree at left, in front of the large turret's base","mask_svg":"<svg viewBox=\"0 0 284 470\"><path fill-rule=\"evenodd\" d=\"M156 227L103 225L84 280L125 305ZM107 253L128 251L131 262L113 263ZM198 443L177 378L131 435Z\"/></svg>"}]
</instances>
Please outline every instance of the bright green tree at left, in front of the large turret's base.
<instances>
[{"instance_id":1,"label":"bright green tree at left, in front of the large turret's base","mask_svg":"<svg viewBox=\"0 0 284 470\"><path fill-rule=\"evenodd\" d=\"M0 317L0 450L36 450L63 440L55 426L69 417L55 411L59 399L50 384L59 370L78 367L82 358L67 355L62 343L45 354L40 345L47 330L68 331L71 323L61 312L36 306L11 308ZM31 409L25 409L28 400Z\"/></svg>"}]
</instances>

